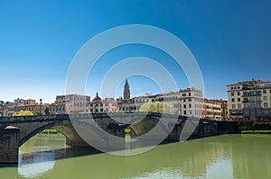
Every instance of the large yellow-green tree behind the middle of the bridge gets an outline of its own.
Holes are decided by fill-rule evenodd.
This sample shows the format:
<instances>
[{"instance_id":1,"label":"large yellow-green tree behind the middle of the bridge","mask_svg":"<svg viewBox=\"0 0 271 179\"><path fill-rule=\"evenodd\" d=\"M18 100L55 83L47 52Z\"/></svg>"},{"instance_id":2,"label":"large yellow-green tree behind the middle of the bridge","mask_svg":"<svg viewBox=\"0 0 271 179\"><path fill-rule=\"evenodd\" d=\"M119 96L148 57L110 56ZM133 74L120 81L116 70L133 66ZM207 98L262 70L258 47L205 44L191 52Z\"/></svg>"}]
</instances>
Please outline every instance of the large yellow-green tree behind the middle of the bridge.
<instances>
[{"instance_id":1,"label":"large yellow-green tree behind the middle of the bridge","mask_svg":"<svg viewBox=\"0 0 271 179\"><path fill-rule=\"evenodd\" d=\"M139 112L158 112L174 114L176 110L173 108L173 104L170 103L148 102L144 103L140 107Z\"/></svg>"}]
</instances>

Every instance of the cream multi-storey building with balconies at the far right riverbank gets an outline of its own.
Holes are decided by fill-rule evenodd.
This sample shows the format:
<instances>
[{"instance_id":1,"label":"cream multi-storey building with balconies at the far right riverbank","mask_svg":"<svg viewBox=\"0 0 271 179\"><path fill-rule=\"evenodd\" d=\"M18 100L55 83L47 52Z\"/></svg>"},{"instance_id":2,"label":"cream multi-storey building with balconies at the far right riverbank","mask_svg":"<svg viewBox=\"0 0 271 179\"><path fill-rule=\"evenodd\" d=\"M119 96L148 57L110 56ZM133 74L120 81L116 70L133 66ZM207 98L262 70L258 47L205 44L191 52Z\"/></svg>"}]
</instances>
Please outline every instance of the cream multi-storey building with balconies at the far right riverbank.
<instances>
[{"instance_id":1,"label":"cream multi-storey building with balconies at the far right riverbank","mask_svg":"<svg viewBox=\"0 0 271 179\"><path fill-rule=\"evenodd\" d=\"M227 87L231 120L271 120L270 81L243 81Z\"/></svg>"}]
</instances>

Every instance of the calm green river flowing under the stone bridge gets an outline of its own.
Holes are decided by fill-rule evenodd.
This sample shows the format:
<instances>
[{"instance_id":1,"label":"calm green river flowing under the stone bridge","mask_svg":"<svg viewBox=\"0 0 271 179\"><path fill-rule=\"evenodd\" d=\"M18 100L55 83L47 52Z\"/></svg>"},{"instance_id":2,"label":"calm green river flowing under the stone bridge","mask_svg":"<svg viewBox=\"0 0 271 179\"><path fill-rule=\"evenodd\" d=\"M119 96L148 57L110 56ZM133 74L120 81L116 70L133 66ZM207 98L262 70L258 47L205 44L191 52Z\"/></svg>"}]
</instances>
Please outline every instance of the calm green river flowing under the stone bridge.
<instances>
[{"instance_id":1,"label":"calm green river flowing under the stone bridge","mask_svg":"<svg viewBox=\"0 0 271 179\"><path fill-rule=\"evenodd\" d=\"M39 134L19 152L12 178L271 178L271 135L222 135L160 145L132 157L67 148L61 135Z\"/></svg>"}]
</instances>

